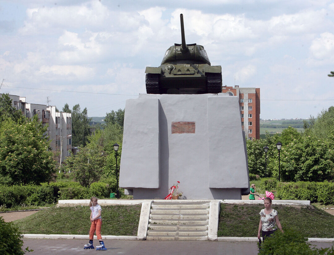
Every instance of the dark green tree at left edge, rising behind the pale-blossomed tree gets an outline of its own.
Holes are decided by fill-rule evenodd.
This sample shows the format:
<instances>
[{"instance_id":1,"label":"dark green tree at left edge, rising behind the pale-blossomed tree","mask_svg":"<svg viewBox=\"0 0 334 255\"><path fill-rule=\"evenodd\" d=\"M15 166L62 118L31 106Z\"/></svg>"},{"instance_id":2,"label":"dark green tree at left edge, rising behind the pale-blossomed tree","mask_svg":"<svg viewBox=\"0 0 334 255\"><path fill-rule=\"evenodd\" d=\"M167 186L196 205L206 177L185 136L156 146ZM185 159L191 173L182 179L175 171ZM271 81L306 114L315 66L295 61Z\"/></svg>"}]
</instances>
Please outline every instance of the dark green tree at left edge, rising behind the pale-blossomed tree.
<instances>
[{"instance_id":1,"label":"dark green tree at left edge, rising behind the pale-blossomed tree","mask_svg":"<svg viewBox=\"0 0 334 255\"><path fill-rule=\"evenodd\" d=\"M12 106L12 99L7 93L2 94L0 97L0 123L8 118L14 122L22 122L24 120L22 113Z\"/></svg>"}]
</instances>

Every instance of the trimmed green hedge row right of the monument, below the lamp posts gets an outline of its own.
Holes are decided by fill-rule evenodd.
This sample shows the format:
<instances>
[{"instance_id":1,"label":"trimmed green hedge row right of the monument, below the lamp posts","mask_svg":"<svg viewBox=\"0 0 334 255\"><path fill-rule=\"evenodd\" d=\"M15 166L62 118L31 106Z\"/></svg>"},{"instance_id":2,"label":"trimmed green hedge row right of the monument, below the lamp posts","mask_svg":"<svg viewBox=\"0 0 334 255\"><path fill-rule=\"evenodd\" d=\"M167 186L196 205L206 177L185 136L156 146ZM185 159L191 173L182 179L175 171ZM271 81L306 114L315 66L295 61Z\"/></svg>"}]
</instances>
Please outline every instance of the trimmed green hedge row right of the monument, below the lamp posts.
<instances>
[{"instance_id":1,"label":"trimmed green hedge row right of the monument, below the lamp posts","mask_svg":"<svg viewBox=\"0 0 334 255\"><path fill-rule=\"evenodd\" d=\"M334 183L328 181L285 183L263 178L260 189L276 190L275 197L281 200L310 200L311 203L334 204Z\"/></svg>"}]
</instances>

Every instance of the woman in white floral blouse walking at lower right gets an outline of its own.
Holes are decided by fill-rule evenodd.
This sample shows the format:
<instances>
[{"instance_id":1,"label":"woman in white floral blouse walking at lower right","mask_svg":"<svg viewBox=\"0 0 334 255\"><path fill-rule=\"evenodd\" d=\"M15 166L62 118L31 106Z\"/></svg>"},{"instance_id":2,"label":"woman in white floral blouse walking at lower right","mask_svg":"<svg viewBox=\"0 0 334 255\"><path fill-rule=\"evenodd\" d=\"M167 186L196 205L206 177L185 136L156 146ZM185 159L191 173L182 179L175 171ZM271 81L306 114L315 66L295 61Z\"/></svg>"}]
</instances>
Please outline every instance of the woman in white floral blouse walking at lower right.
<instances>
[{"instance_id":1,"label":"woman in white floral blouse walking at lower right","mask_svg":"<svg viewBox=\"0 0 334 255\"><path fill-rule=\"evenodd\" d=\"M271 204L271 198L265 198L265 209L262 209L260 212L258 238L260 239L262 230L263 241L266 239L266 237L269 237L271 234L273 234L277 230L277 227L283 232L281 222L278 219L278 212L271 208Z\"/></svg>"}]
</instances>

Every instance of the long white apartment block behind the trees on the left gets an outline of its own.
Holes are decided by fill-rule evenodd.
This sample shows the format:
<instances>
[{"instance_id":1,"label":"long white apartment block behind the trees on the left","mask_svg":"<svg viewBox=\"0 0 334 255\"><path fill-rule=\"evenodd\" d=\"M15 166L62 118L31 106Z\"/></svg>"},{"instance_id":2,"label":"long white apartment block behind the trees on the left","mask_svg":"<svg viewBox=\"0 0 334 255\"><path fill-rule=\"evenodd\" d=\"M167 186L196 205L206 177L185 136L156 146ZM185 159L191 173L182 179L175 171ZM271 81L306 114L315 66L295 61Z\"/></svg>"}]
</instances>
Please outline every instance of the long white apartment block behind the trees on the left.
<instances>
[{"instance_id":1,"label":"long white apartment block behind the trees on the left","mask_svg":"<svg viewBox=\"0 0 334 255\"><path fill-rule=\"evenodd\" d=\"M2 96L2 94L0 94ZM25 97L8 95L12 99L12 106L20 110L27 118L34 115L43 125L48 124L46 134L51 140L52 151L57 155L58 162L63 162L70 156L72 149L72 116L71 113L58 112L56 106L27 103Z\"/></svg>"}]
</instances>

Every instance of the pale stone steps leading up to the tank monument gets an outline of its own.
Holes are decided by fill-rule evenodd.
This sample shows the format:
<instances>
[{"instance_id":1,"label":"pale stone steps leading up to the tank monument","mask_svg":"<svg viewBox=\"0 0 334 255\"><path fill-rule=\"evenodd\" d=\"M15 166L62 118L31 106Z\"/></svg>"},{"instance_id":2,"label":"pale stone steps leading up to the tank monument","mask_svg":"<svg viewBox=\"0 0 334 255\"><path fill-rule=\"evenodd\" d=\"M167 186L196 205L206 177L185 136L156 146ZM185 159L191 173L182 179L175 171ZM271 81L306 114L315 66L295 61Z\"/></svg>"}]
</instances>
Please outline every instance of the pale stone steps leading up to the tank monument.
<instances>
[{"instance_id":1,"label":"pale stone steps leading up to the tank monument","mask_svg":"<svg viewBox=\"0 0 334 255\"><path fill-rule=\"evenodd\" d=\"M153 202L146 240L208 240L209 201Z\"/></svg>"}]
</instances>

